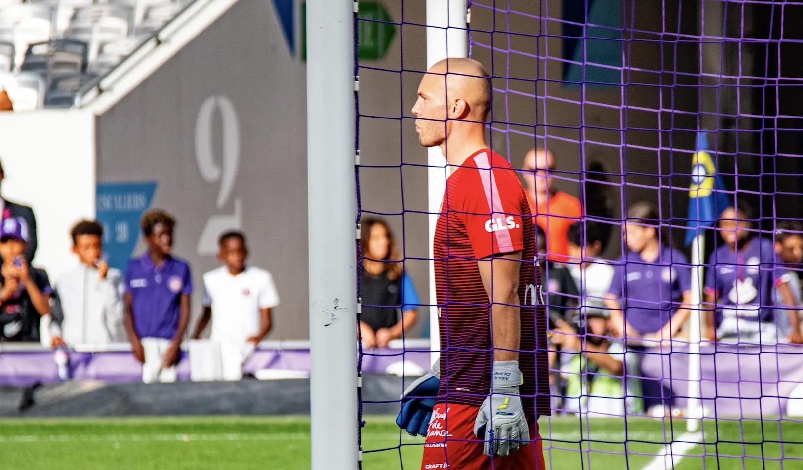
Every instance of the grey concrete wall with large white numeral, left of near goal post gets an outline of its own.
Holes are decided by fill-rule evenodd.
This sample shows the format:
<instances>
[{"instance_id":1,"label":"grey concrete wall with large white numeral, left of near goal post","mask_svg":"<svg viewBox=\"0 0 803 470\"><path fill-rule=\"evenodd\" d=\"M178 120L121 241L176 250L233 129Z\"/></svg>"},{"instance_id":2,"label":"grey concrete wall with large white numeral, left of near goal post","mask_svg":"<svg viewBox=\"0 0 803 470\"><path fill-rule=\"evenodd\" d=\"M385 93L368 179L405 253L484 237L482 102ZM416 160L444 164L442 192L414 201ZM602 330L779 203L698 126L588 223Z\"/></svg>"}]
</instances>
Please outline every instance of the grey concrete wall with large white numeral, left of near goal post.
<instances>
[{"instance_id":1,"label":"grey concrete wall with large white numeral, left of near goal post","mask_svg":"<svg viewBox=\"0 0 803 470\"><path fill-rule=\"evenodd\" d=\"M177 217L194 313L217 236L240 228L279 289L274 339L308 334L304 96L272 2L247 0L97 118L98 182L157 182L151 206Z\"/></svg>"}]
</instances>

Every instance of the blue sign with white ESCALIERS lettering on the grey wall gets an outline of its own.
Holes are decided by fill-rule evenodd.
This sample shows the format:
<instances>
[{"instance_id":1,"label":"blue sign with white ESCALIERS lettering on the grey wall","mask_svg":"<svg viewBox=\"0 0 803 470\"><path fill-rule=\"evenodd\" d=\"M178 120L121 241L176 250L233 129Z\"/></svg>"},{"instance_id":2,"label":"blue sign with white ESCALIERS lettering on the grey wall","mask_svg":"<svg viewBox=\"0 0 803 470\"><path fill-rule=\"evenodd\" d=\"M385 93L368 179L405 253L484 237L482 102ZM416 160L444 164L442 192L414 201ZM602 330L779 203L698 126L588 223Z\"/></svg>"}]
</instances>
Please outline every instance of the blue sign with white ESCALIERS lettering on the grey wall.
<instances>
[{"instance_id":1,"label":"blue sign with white ESCALIERS lettering on the grey wall","mask_svg":"<svg viewBox=\"0 0 803 470\"><path fill-rule=\"evenodd\" d=\"M150 207L156 186L156 182L97 184L97 219L104 227L104 253L112 268L125 271L137 247L140 218Z\"/></svg>"}]
</instances>

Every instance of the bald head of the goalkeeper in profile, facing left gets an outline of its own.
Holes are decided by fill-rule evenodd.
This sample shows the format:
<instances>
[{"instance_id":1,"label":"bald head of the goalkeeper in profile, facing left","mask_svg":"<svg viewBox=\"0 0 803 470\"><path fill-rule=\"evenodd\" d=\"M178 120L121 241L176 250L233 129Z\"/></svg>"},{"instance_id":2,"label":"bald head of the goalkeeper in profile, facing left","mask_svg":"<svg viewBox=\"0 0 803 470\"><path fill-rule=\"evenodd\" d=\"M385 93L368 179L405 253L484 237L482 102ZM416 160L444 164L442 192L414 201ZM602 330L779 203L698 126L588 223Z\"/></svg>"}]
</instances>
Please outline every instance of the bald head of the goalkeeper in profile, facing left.
<instances>
[{"instance_id":1,"label":"bald head of the goalkeeper in profile, facing left","mask_svg":"<svg viewBox=\"0 0 803 470\"><path fill-rule=\"evenodd\" d=\"M413 106L419 141L426 147L441 145L454 125L472 129L484 141L482 123L490 103L491 80L481 63L465 58L435 63L418 85Z\"/></svg>"}]
</instances>

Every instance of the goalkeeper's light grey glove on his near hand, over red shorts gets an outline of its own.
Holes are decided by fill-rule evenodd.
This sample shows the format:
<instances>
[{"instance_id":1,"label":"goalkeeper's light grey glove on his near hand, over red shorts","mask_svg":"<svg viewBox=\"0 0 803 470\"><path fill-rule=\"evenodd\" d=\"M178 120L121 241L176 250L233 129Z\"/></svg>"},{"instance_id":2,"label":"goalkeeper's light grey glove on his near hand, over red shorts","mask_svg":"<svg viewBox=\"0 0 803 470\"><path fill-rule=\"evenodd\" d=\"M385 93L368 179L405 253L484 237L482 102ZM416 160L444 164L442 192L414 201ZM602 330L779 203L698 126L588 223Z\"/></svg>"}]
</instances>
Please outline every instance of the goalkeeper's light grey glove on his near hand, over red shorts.
<instances>
[{"instance_id":1,"label":"goalkeeper's light grey glove on his near hand, over red shorts","mask_svg":"<svg viewBox=\"0 0 803 470\"><path fill-rule=\"evenodd\" d=\"M485 440L486 456L505 457L529 443L530 428L519 396L523 382L519 362L494 362L491 394L479 407L474 422L474 435Z\"/></svg>"}]
</instances>

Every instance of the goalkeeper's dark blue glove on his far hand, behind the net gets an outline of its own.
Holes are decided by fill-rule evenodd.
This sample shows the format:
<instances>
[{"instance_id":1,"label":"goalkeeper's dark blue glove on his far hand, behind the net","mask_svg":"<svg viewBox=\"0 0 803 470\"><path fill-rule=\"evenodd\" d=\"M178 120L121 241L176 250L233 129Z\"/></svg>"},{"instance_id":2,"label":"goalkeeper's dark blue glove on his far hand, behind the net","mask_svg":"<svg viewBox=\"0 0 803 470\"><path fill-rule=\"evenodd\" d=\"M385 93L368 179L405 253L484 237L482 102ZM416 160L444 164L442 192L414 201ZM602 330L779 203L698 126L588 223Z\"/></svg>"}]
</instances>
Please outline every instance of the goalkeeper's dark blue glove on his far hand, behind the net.
<instances>
[{"instance_id":1,"label":"goalkeeper's dark blue glove on his far hand, behind the net","mask_svg":"<svg viewBox=\"0 0 803 470\"><path fill-rule=\"evenodd\" d=\"M402 394L402 411L396 416L396 424L409 435L426 437L441 384L440 367L441 362L435 362L429 372L411 383Z\"/></svg>"}]
</instances>

